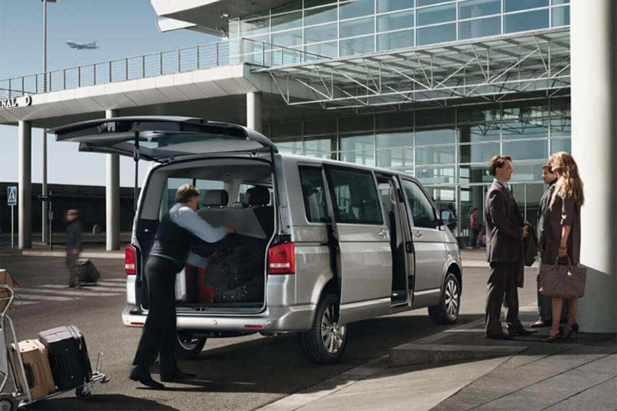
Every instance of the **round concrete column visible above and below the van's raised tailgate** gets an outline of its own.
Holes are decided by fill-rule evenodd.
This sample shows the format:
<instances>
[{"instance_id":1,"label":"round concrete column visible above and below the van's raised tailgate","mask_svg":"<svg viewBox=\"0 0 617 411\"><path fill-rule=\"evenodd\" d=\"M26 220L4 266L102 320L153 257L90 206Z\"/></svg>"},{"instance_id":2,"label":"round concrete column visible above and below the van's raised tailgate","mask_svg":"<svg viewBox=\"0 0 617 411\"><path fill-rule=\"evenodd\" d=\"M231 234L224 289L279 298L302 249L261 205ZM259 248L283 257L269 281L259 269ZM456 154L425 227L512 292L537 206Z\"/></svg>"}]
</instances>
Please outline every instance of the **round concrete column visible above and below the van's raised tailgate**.
<instances>
[{"instance_id":1,"label":"round concrete column visible above and below the van's raised tailgate","mask_svg":"<svg viewBox=\"0 0 617 411\"><path fill-rule=\"evenodd\" d=\"M105 118L116 117L116 110L105 110ZM106 248L120 248L120 157L107 154L105 183Z\"/></svg>"}]
</instances>

